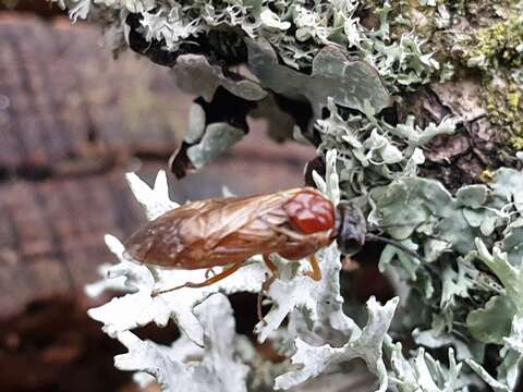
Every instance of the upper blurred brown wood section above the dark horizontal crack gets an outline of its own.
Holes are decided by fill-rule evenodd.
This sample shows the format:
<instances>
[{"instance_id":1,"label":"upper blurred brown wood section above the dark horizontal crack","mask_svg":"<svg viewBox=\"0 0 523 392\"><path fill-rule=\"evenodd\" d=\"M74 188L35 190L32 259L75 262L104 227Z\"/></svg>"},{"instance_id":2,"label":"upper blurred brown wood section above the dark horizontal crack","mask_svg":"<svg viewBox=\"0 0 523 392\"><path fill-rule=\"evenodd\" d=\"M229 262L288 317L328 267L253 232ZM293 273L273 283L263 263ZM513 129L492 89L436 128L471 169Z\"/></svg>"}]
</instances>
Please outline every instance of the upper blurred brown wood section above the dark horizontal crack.
<instances>
[{"instance_id":1,"label":"upper blurred brown wood section above the dark horizontal crack","mask_svg":"<svg viewBox=\"0 0 523 392\"><path fill-rule=\"evenodd\" d=\"M0 171L172 152L190 100L166 69L130 53L114 61L99 40L86 25L0 14Z\"/></svg>"}]
</instances>

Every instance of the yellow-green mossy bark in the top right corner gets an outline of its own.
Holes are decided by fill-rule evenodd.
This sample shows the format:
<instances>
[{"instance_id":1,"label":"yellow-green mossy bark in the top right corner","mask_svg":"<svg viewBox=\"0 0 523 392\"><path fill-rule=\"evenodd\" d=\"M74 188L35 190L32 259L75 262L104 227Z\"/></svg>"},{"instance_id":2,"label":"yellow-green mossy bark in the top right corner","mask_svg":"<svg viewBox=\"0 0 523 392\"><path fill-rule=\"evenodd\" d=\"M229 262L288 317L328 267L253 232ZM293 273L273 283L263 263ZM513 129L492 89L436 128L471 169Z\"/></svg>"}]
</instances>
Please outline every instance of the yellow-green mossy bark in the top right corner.
<instances>
[{"instance_id":1,"label":"yellow-green mossy bark in the top right corner","mask_svg":"<svg viewBox=\"0 0 523 392\"><path fill-rule=\"evenodd\" d=\"M381 2L373 4L377 8ZM436 4L445 5L448 14L427 1L390 2L391 37L413 30L424 40L424 50L434 52L440 63L433 79L448 81L460 68L481 70L490 122L503 130L509 149L523 150L523 83L515 76L518 69L523 70L523 2L437 0Z\"/></svg>"}]
</instances>

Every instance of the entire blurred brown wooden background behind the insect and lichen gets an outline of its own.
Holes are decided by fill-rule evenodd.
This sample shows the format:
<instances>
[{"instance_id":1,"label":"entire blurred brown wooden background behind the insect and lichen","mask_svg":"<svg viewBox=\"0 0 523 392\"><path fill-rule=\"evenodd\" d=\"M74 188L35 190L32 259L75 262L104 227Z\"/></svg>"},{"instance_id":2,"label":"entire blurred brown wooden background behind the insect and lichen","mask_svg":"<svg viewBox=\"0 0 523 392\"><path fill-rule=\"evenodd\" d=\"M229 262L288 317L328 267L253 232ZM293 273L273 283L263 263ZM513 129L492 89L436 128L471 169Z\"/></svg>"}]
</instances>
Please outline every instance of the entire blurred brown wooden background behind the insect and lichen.
<instances>
[{"instance_id":1,"label":"entire blurred brown wooden background behind the insect and lichen","mask_svg":"<svg viewBox=\"0 0 523 392\"><path fill-rule=\"evenodd\" d=\"M0 390L126 390L112 366L122 347L87 318L96 304L83 287L114 261L104 234L123 238L144 221L123 173L150 182L167 168L192 97L167 69L132 53L114 61L97 27L71 26L42 3L0 11ZM314 150L277 145L263 128L208 169L171 176L172 198L302 185ZM169 342L175 332L148 333Z\"/></svg>"}]
</instances>

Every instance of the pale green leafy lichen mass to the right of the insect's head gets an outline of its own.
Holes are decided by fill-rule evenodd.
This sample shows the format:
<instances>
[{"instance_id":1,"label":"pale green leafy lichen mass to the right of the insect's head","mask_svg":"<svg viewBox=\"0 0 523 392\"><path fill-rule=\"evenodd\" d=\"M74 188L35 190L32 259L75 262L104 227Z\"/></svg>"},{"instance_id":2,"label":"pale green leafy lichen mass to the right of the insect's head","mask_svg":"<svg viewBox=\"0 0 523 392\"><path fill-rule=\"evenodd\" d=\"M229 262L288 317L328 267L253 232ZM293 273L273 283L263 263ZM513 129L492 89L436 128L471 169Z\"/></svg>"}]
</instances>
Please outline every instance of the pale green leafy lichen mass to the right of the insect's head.
<instances>
[{"instance_id":1,"label":"pale green leafy lichen mass to the right of the insect's head","mask_svg":"<svg viewBox=\"0 0 523 392\"><path fill-rule=\"evenodd\" d=\"M467 359L465 369L462 364L455 368L463 377L448 389L452 391L478 382L471 370L486 380L479 364L486 344L498 344L500 363L491 377L497 389L512 390L522 360L521 354L509 351L507 339L522 315L523 173L501 168L488 184L451 193L437 180L417 175L424 144L455 132L451 120L426 128L415 126L412 119L391 126L369 114L343 119L330 108L330 117L319 121L317 130L320 148L339 149L342 196L366 211L369 228L419 255L393 245L381 254L380 269L410 287L402 298L406 307L400 308L403 322L393 328L410 331L421 346L454 347L458 359ZM503 359L509 352L510 363ZM419 352L416 360L423 357ZM430 369L423 366L424 371ZM406 369L401 371L398 389L416 390L419 379L405 385ZM431 382L427 378L426 385ZM491 384L490 379L486 382Z\"/></svg>"}]
</instances>

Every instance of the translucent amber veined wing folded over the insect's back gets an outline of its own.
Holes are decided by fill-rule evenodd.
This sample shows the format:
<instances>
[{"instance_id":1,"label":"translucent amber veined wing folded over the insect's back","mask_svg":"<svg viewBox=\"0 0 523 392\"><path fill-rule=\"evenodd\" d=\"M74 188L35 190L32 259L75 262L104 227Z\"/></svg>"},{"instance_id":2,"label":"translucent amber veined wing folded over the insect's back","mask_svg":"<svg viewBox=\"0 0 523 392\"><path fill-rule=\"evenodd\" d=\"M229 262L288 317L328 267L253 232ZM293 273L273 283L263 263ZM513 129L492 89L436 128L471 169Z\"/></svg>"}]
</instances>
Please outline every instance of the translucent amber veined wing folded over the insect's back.
<instances>
[{"instance_id":1,"label":"translucent amber veined wing folded over the insect's back","mask_svg":"<svg viewBox=\"0 0 523 392\"><path fill-rule=\"evenodd\" d=\"M281 241L270 229L287 222L282 205L300 191L188 203L149 222L125 246L139 261L170 268L245 259Z\"/></svg>"}]
</instances>

